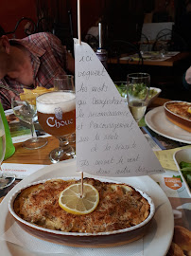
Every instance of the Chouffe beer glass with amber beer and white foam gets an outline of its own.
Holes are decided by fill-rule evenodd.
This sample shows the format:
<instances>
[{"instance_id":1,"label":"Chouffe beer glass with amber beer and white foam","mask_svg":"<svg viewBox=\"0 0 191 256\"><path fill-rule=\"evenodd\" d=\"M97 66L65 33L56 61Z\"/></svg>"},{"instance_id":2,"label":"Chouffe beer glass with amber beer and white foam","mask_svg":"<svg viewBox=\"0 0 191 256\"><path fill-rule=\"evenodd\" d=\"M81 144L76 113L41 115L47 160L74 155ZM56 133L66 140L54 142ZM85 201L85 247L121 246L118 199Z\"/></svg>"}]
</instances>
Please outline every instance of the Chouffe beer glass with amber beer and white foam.
<instances>
[{"instance_id":1,"label":"Chouffe beer glass with amber beer and white foam","mask_svg":"<svg viewBox=\"0 0 191 256\"><path fill-rule=\"evenodd\" d=\"M52 163L74 158L68 136L76 131L76 95L73 90L45 93L36 99L37 113L43 131L57 137L60 147L50 152Z\"/></svg>"}]
</instances>

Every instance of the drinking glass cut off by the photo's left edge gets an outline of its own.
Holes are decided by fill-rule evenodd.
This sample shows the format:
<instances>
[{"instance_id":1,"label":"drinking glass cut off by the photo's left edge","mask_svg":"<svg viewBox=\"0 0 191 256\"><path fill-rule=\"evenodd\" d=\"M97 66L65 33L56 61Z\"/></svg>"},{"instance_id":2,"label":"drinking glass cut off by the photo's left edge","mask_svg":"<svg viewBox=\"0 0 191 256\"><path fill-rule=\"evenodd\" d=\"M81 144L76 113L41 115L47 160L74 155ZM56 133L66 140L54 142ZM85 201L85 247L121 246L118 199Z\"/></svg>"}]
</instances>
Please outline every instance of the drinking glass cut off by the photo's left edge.
<instances>
[{"instance_id":1,"label":"drinking glass cut off by the photo's left edge","mask_svg":"<svg viewBox=\"0 0 191 256\"><path fill-rule=\"evenodd\" d=\"M0 116L0 169L6 153L6 133L3 124L3 120ZM4 177L3 174L0 175L0 190L9 187L15 180L15 177Z\"/></svg>"}]
</instances>

